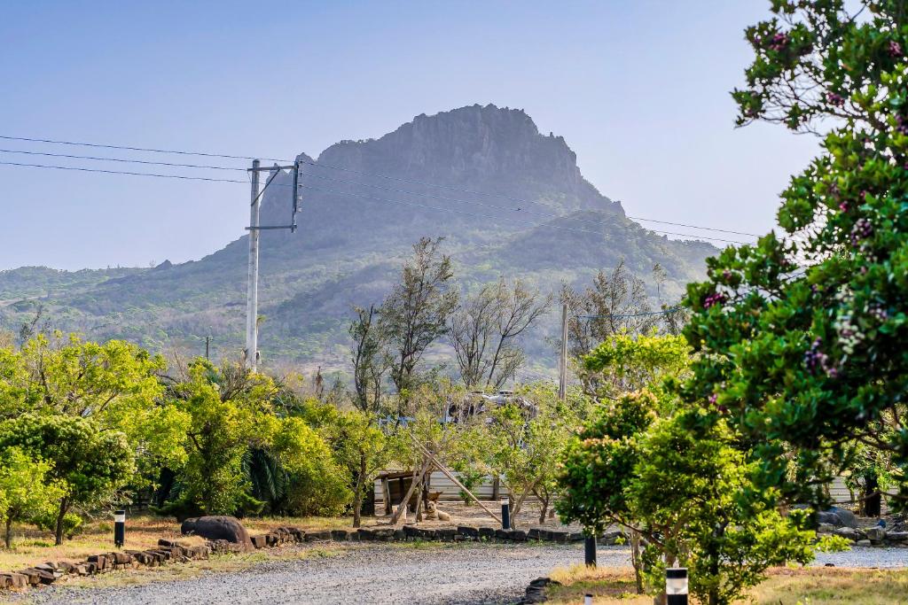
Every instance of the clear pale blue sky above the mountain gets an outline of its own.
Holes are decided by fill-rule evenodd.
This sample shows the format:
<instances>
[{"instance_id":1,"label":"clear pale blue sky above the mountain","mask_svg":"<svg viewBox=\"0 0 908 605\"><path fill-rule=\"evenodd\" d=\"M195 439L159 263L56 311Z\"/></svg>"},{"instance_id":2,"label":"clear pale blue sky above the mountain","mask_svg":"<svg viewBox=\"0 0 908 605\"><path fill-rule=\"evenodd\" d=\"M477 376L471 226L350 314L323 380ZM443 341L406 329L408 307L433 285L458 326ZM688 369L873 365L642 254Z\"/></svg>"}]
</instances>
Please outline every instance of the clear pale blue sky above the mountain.
<instances>
[{"instance_id":1,"label":"clear pale blue sky above the mountain","mask_svg":"<svg viewBox=\"0 0 908 605\"><path fill-rule=\"evenodd\" d=\"M762 232L817 149L780 127L734 128L728 91L750 58L742 32L768 5L6 3L0 134L314 156L419 113L494 102L563 135L628 214ZM248 220L243 185L3 166L0 176L0 268L199 259Z\"/></svg>"}]
</instances>

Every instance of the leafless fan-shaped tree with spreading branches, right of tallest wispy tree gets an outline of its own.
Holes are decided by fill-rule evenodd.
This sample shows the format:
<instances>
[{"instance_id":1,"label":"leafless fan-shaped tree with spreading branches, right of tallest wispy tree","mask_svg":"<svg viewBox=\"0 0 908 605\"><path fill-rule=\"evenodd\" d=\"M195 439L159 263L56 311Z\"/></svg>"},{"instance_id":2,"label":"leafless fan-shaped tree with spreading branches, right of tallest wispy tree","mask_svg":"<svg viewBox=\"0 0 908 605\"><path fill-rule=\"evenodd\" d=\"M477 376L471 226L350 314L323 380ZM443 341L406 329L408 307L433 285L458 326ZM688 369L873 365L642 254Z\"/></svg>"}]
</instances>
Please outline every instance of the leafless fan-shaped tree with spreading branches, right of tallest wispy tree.
<instances>
[{"instance_id":1,"label":"leafless fan-shaped tree with spreading branches, right of tallest wispy tree","mask_svg":"<svg viewBox=\"0 0 908 605\"><path fill-rule=\"evenodd\" d=\"M508 287L503 278L467 298L451 315L449 329L464 385L499 388L513 376L524 361L516 341L550 302L519 280Z\"/></svg>"}]
</instances>

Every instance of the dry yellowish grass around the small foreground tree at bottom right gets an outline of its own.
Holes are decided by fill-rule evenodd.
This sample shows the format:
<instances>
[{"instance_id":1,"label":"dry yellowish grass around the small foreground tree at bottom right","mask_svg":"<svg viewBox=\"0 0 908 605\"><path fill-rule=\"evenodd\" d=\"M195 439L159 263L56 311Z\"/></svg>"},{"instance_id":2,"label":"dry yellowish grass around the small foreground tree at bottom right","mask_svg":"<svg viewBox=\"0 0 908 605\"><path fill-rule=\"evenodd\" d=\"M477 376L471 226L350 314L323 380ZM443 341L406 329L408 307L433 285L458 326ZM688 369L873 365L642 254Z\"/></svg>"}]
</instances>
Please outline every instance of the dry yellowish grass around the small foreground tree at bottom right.
<instances>
[{"instance_id":1,"label":"dry yellowish grass around the small foreground tree at bottom right","mask_svg":"<svg viewBox=\"0 0 908 605\"><path fill-rule=\"evenodd\" d=\"M577 565L551 574L562 586L548 589L549 602L567 605L592 594L597 605L650 605L652 597L635 594L630 568ZM908 570L778 568L746 595L756 605L896 605L908 603ZM696 602L692 600L692 602Z\"/></svg>"}]
</instances>

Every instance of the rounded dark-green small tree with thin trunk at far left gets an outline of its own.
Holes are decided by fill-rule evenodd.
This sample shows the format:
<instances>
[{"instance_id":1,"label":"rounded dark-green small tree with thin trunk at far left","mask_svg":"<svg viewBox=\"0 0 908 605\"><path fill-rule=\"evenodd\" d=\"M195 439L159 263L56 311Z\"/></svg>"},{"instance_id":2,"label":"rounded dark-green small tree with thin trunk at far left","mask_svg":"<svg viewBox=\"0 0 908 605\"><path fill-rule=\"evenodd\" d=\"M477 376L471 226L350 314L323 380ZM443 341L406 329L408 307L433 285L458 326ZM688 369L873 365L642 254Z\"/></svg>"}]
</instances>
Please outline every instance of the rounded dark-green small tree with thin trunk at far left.
<instances>
[{"instance_id":1,"label":"rounded dark-green small tree with thin trunk at far left","mask_svg":"<svg viewBox=\"0 0 908 605\"><path fill-rule=\"evenodd\" d=\"M25 414L0 421L0 450L12 447L50 464L48 480L62 488L55 503L57 544L67 512L109 502L134 472L125 435L89 418Z\"/></svg>"}]
</instances>

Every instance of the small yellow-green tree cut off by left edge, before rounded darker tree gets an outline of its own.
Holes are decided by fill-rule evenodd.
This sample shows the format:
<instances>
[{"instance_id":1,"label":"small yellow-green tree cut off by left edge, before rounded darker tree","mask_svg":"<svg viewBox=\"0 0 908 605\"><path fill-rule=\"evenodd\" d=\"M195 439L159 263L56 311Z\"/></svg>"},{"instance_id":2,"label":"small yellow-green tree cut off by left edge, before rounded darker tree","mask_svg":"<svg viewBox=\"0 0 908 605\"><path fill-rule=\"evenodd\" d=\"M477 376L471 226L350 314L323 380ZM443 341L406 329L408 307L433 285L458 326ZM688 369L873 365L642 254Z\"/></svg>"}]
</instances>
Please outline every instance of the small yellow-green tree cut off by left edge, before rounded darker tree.
<instances>
[{"instance_id":1,"label":"small yellow-green tree cut off by left edge, before rounded darker tree","mask_svg":"<svg viewBox=\"0 0 908 605\"><path fill-rule=\"evenodd\" d=\"M11 447L0 452L0 521L6 548L13 547L13 523L51 514L64 496L58 481L48 479L51 465Z\"/></svg>"}]
</instances>

